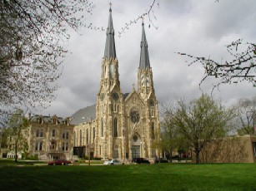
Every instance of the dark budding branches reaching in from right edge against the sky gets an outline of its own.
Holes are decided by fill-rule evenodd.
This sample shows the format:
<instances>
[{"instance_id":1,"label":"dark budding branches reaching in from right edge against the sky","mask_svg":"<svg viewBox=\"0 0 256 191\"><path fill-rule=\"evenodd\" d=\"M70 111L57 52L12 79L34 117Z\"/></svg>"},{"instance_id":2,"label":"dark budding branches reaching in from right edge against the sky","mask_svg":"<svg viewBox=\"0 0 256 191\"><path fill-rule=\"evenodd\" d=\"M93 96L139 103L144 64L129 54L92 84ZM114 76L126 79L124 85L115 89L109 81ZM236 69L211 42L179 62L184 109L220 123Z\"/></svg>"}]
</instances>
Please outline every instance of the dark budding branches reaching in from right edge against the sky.
<instances>
[{"instance_id":1,"label":"dark budding branches reaching in from right edge against the sky","mask_svg":"<svg viewBox=\"0 0 256 191\"><path fill-rule=\"evenodd\" d=\"M220 81L215 87L221 84L240 83L242 81L248 81L254 87L256 86L256 44L252 42L243 42L242 39L238 39L232 42L227 47L228 54L233 57L231 61L213 61L207 57L192 56L187 53L178 52L180 55L188 56L193 61L188 66L193 64L202 65L205 71L205 76L200 82L199 86L208 77L213 76Z\"/></svg>"}]
</instances>

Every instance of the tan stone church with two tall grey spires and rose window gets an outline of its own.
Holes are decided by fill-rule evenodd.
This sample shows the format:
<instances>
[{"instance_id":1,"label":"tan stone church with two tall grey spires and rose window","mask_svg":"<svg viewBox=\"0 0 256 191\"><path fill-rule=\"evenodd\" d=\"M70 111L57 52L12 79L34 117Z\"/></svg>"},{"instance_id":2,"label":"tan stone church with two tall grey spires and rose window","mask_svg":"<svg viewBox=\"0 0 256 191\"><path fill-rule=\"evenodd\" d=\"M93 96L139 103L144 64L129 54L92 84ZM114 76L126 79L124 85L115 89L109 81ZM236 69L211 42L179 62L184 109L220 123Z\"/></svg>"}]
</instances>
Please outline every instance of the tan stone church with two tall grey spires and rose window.
<instances>
[{"instance_id":1,"label":"tan stone church with two tall grey spires and rose window","mask_svg":"<svg viewBox=\"0 0 256 191\"><path fill-rule=\"evenodd\" d=\"M74 149L85 147L87 154L103 159L153 158L158 155L157 149L153 149L159 130L158 100L153 88L144 23L138 90L133 85L130 93L123 94L120 87L111 7L106 31L96 118L74 127Z\"/></svg>"}]
</instances>

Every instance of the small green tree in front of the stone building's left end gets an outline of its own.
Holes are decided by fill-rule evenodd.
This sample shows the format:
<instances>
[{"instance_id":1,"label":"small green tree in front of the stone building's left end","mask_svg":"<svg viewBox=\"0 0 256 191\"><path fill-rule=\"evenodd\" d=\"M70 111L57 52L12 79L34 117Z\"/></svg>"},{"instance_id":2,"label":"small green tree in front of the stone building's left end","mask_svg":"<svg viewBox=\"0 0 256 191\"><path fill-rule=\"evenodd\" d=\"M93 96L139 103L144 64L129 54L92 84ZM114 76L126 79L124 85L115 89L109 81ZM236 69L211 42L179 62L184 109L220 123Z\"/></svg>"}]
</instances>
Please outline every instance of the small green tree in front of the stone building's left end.
<instances>
[{"instance_id":1,"label":"small green tree in front of the stone building's left end","mask_svg":"<svg viewBox=\"0 0 256 191\"><path fill-rule=\"evenodd\" d=\"M14 151L15 162L18 161L18 152L28 153L28 119L23 110L16 110L11 116L8 127L4 130L8 137L8 149Z\"/></svg>"}]
</instances>

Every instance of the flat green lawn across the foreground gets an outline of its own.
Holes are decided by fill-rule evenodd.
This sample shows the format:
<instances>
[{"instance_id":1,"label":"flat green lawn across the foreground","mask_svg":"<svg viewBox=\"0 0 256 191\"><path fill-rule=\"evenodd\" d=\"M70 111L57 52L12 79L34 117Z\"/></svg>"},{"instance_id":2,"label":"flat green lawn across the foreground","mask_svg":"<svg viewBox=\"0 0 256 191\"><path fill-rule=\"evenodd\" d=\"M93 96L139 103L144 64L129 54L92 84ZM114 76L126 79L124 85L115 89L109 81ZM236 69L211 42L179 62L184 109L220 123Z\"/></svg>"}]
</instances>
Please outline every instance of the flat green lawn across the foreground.
<instances>
[{"instance_id":1,"label":"flat green lawn across the foreground","mask_svg":"<svg viewBox=\"0 0 256 191\"><path fill-rule=\"evenodd\" d=\"M256 190L256 164L7 166L1 190Z\"/></svg>"}]
</instances>

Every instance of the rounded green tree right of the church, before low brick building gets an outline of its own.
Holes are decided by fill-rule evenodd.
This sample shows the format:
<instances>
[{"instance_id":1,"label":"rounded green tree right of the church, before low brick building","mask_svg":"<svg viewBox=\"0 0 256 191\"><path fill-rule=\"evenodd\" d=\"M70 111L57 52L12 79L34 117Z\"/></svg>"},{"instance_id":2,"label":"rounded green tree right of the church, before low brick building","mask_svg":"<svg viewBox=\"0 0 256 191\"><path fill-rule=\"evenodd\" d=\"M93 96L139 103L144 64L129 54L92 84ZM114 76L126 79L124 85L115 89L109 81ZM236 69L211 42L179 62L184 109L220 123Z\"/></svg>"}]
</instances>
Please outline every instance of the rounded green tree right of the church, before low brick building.
<instances>
[{"instance_id":1,"label":"rounded green tree right of the church, before low brick building","mask_svg":"<svg viewBox=\"0 0 256 191\"><path fill-rule=\"evenodd\" d=\"M179 100L169 115L193 149L196 163L199 163L199 153L203 147L227 135L230 130L228 121L233 118L233 110L227 110L218 101L203 95L189 104Z\"/></svg>"}]
</instances>

